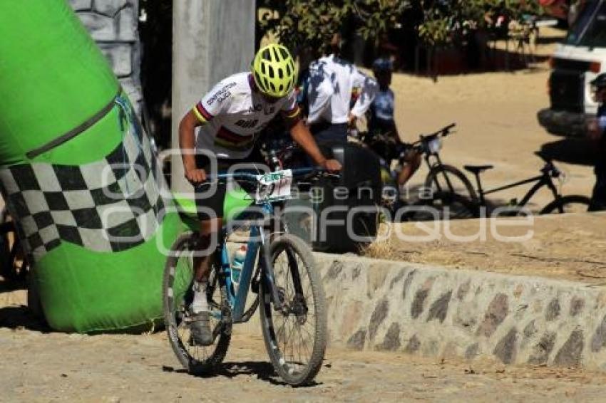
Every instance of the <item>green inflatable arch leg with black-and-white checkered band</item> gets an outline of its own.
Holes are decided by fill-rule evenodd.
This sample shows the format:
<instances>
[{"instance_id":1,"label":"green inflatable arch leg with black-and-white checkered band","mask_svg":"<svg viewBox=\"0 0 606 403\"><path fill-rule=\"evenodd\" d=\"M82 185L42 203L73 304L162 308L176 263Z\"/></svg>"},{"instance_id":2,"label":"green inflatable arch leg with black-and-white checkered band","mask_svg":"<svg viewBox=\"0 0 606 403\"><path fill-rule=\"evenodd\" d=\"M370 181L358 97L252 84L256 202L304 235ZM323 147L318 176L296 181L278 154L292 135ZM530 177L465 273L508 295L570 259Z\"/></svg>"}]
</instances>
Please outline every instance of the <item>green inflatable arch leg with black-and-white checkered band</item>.
<instances>
[{"instance_id":1,"label":"green inflatable arch leg with black-and-white checkered band","mask_svg":"<svg viewBox=\"0 0 606 403\"><path fill-rule=\"evenodd\" d=\"M183 223L148 137L66 1L2 1L0 21L0 184L46 320L149 326Z\"/></svg>"}]
</instances>

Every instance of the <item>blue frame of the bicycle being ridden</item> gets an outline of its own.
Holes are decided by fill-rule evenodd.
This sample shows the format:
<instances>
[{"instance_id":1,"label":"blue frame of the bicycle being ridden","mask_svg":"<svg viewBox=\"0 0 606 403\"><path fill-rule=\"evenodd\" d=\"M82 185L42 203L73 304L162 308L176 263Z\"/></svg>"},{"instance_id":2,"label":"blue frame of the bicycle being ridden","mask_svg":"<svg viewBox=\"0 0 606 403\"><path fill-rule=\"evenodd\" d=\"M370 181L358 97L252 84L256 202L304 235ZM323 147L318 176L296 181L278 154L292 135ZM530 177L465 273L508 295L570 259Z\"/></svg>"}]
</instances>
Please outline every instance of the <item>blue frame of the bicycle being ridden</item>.
<instances>
[{"instance_id":1,"label":"blue frame of the bicycle being ridden","mask_svg":"<svg viewBox=\"0 0 606 403\"><path fill-rule=\"evenodd\" d=\"M297 168L292 169L292 175L304 175L310 174L312 172L318 172L319 169L314 168ZM234 174L217 174L211 177L211 179L250 179L257 180L257 175L240 172ZM272 216L274 214L274 206L271 201L262 201L260 203L261 211L264 217ZM240 214L240 217L245 216L247 214L247 210L245 209ZM276 301L279 301L277 297L277 290L274 285L274 271L272 264L270 263L271 256L269 251L269 240L266 239L266 234L260 228L260 225L255 224L250 226L250 239L247 244L247 252L245 256L245 260L242 266L242 271L240 273L240 281L237 283L237 291L235 291L236 284L232 281L231 276L231 263L230 256L227 251L227 234L228 234L228 226L224 226L222 229L222 244L220 248L220 260L221 260L221 276L225 278L225 286L227 288L227 302L230 304L232 309L232 323L242 323L248 320L249 318L244 318L244 310L246 305L246 300L248 297L248 292L250 289L250 284L252 281L252 274L255 272L255 262L257 261L257 254L260 254L260 258L258 259L259 263L262 265L263 276L265 281L267 281L267 285L270 286L272 290L272 296L274 300L274 304ZM279 304L279 302L277 303ZM279 310L279 306L275 307ZM222 313L217 312L214 315L218 316L218 320L220 320L220 316Z\"/></svg>"}]
</instances>

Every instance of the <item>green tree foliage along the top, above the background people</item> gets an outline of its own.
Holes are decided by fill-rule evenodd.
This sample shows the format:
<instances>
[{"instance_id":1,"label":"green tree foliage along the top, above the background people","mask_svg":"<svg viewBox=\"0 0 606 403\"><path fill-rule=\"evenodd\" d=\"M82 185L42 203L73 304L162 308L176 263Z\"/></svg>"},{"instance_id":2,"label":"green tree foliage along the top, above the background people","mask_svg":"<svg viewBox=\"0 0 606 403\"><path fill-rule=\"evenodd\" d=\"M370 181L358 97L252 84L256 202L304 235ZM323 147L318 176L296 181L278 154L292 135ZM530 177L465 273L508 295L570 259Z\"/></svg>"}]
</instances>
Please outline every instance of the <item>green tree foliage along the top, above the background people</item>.
<instances>
[{"instance_id":1,"label":"green tree foliage along the top, above the background people","mask_svg":"<svg viewBox=\"0 0 606 403\"><path fill-rule=\"evenodd\" d=\"M273 32L292 49L321 48L345 26L364 38L379 38L411 22L422 41L439 46L456 43L470 30L492 28L498 16L519 21L525 14L540 14L538 1L531 0L257 0L257 5L266 10L260 31ZM413 8L421 10L422 19L402 21Z\"/></svg>"}]
</instances>

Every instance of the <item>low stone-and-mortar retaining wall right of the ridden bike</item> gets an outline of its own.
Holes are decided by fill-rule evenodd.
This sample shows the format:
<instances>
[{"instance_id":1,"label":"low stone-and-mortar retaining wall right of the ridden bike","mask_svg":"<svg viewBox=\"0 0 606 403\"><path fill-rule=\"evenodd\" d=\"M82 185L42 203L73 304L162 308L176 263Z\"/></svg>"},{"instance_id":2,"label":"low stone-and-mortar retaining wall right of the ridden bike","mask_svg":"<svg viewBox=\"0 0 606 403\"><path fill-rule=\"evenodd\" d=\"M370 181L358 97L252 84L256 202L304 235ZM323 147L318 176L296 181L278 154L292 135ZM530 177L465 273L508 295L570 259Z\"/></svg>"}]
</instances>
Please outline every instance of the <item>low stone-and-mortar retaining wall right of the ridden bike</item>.
<instances>
[{"instance_id":1,"label":"low stone-and-mortar retaining wall right of the ridden bike","mask_svg":"<svg viewBox=\"0 0 606 403\"><path fill-rule=\"evenodd\" d=\"M315 256L332 346L606 370L605 287Z\"/></svg>"}]
</instances>

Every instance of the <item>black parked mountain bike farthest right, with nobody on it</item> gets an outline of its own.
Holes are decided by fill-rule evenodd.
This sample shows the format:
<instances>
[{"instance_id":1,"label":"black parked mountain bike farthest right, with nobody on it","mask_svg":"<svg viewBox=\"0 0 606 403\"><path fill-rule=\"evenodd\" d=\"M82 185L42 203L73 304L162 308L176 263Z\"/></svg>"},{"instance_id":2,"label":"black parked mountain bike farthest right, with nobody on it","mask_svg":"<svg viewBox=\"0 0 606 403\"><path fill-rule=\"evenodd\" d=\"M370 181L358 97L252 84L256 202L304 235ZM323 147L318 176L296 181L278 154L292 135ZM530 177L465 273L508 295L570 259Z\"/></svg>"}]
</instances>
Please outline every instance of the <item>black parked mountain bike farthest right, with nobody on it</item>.
<instances>
[{"instance_id":1,"label":"black parked mountain bike farthest right, with nobody on it","mask_svg":"<svg viewBox=\"0 0 606 403\"><path fill-rule=\"evenodd\" d=\"M510 208L508 209L509 214L518 214L520 210L528 204L528 201L532 199L536 192L543 187L547 187L550 190L551 194L553 195L553 200L544 206L543 209L540 209L539 214L561 214L587 211L590 204L590 198L578 194L569 194L563 196L558 187L556 187L553 183L553 179L558 179L560 180L560 184L563 184L565 174L553 164L552 159L546 157L540 152L535 152L535 155L540 157L540 159L543 159L543 162L545 162L543 167L540 169L540 175L489 190L483 189L480 174L487 169L492 169L493 165L465 165L464 168L476 177L476 183L478 184L478 199L477 201L472 201L470 204L468 204L470 213L474 214L475 216L480 216L482 208L491 210L491 206L486 201L487 194L493 194L505 189L511 189L513 187L518 187L533 182L535 182L533 187L528 190L520 201L518 201L518 199L513 199L510 201Z\"/></svg>"}]
</instances>

